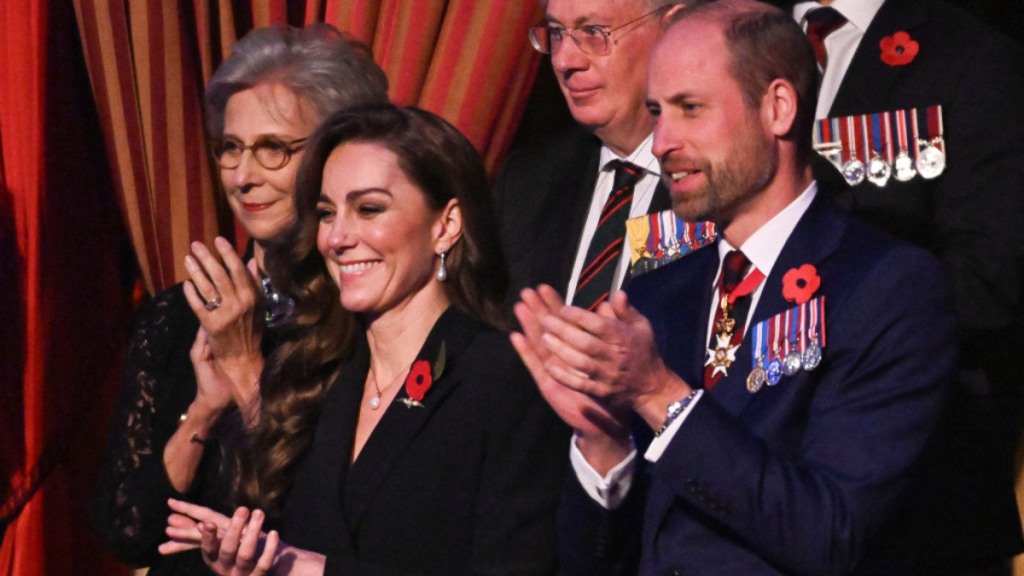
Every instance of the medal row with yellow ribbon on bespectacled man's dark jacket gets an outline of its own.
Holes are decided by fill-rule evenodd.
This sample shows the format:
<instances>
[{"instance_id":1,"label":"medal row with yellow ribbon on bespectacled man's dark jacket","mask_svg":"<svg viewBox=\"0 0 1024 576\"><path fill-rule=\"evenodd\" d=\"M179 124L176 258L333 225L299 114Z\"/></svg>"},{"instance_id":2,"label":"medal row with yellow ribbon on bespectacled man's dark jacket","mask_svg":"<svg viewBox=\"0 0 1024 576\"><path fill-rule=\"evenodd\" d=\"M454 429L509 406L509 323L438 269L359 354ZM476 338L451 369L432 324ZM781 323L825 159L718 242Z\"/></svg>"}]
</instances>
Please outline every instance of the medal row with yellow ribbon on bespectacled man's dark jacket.
<instances>
[{"instance_id":1,"label":"medal row with yellow ribbon on bespectacled man's dark jacket","mask_svg":"<svg viewBox=\"0 0 1024 576\"><path fill-rule=\"evenodd\" d=\"M718 238L715 222L687 222L672 210L626 220L630 243L630 278L664 266Z\"/></svg>"}]
</instances>

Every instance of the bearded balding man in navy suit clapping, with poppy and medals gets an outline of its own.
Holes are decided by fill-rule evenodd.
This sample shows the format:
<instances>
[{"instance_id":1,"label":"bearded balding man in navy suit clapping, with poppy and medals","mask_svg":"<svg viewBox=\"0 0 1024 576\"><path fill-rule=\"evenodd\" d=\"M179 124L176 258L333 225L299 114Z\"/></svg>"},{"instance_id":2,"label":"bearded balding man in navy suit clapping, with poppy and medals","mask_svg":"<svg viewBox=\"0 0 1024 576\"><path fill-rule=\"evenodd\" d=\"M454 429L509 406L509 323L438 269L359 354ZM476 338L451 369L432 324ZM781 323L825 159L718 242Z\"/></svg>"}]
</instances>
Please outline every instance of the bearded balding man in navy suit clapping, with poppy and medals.
<instances>
[{"instance_id":1,"label":"bearded balding man in navy suit clapping, with poppy and medals","mask_svg":"<svg viewBox=\"0 0 1024 576\"><path fill-rule=\"evenodd\" d=\"M516 304L512 341L575 429L563 567L899 574L901 506L955 372L948 287L817 193L814 55L788 15L720 0L677 17L650 60L653 152L716 249L595 313L549 287ZM642 458L631 415L655 435Z\"/></svg>"}]
</instances>

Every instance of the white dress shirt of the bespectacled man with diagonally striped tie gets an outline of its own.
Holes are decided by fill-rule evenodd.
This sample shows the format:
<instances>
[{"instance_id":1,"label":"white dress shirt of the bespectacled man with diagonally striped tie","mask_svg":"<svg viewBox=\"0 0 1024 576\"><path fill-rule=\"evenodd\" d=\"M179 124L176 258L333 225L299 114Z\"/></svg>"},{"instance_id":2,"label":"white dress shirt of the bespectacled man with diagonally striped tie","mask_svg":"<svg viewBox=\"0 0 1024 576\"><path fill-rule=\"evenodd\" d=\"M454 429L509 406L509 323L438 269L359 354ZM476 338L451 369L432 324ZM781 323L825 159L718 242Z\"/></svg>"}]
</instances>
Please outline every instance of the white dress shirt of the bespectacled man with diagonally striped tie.
<instances>
[{"instance_id":1,"label":"white dress shirt of the bespectacled man with diagonally striped tie","mask_svg":"<svg viewBox=\"0 0 1024 576\"><path fill-rule=\"evenodd\" d=\"M565 303L572 303L572 296L575 293L577 283L580 282L580 273L583 271L584 261L587 259L587 249L590 248L590 241L594 238L594 233L597 232L597 223L601 219L601 210L604 209L604 203L608 201L608 197L611 196L611 187L615 180L615 171L608 166L608 163L612 160L623 160L643 168L645 174L640 178L640 181L633 187L633 202L630 204L630 215L629 217L635 218L637 216L642 216L647 213L650 208L650 201L654 198L654 189L657 188L657 182L662 177L662 169L657 164L657 159L650 152L651 142L653 140L653 135L648 135L644 141L640 142L640 146L633 151L632 154L626 158L620 157L614 152L611 152L606 146L601 147L601 160L598 164L598 174L597 183L594 184L594 195L590 202L590 211L587 213L587 223L583 228L583 236L580 237L580 244L577 246L577 257L575 263L572 264L572 276L569 277L569 285L565 290ZM626 237L626 231L623 230L623 238ZM627 241L628 242L628 241ZM626 279L626 272L630 268L629 254L626 251L625 244L623 248L623 254L618 259L618 264L615 266L614 283L612 286L612 292L618 290L623 281Z\"/></svg>"}]
</instances>

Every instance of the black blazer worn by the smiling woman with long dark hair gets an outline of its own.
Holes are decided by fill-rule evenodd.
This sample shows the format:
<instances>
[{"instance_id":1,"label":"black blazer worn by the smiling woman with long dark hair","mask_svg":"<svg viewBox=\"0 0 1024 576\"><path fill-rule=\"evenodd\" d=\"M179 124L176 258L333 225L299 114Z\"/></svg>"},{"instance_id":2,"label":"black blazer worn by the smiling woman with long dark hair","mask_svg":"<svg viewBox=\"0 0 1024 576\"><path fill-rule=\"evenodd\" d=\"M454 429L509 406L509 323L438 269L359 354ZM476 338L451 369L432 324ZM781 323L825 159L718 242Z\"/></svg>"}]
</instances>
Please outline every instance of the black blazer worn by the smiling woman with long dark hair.
<instances>
[{"instance_id":1,"label":"black blazer worn by the smiling woman with long dark hair","mask_svg":"<svg viewBox=\"0 0 1024 576\"><path fill-rule=\"evenodd\" d=\"M442 348L423 407L393 402L351 466L365 341L329 392L282 527L326 574L554 573L569 430L505 334L450 308L418 360Z\"/></svg>"}]
</instances>

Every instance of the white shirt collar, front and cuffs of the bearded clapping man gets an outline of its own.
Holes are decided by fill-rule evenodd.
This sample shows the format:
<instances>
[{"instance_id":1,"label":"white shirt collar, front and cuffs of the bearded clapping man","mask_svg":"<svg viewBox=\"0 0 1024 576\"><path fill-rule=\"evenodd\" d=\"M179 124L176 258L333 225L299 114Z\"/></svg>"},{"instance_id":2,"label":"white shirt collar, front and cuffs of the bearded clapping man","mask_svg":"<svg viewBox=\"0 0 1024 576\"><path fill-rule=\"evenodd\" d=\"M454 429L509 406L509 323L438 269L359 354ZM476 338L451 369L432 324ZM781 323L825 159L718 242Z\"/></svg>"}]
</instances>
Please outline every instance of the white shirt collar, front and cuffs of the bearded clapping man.
<instances>
[{"instance_id":1,"label":"white shirt collar, front and cuffs of the bearded clapping man","mask_svg":"<svg viewBox=\"0 0 1024 576\"><path fill-rule=\"evenodd\" d=\"M791 202L781 212L775 214L775 216L746 239L740 250L751 260L752 265L748 274L753 273L757 269L765 275L765 278L771 276L771 271L775 266L775 260L782 253L785 241L790 239L790 235L797 228L797 222L807 212L817 194L817 182L811 182L811 186L798 196L796 200ZM711 301L711 316L708 321L707 332L705 333L706 342L711 339L715 322L715 307L720 298L718 280L722 275L722 262L725 260L725 255L731 250L734 250L733 246L723 238L718 244L718 273L715 275L715 297ZM746 327L750 326L754 311L757 310L764 284L762 282L751 293L751 308L743 325L743 333L746 333ZM673 420L672 424L660 436L656 437L650 443L647 451L644 452L644 458L647 461L656 462L662 457L665 449L668 448L672 439L675 438L676 433L679 431L690 411L693 410L693 407L697 405L702 397L703 390L698 389L686 410ZM636 469L635 459L636 450L634 449L626 460L609 470L607 475L601 477L601 475L597 474L597 470L590 466L587 459L584 458L583 453L577 447L574 438L569 447L569 461L572 463L572 469L575 471L580 484L591 498L608 509L617 507L623 499L626 498L626 494L629 493L629 489L633 484L633 471Z\"/></svg>"}]
</instances>

